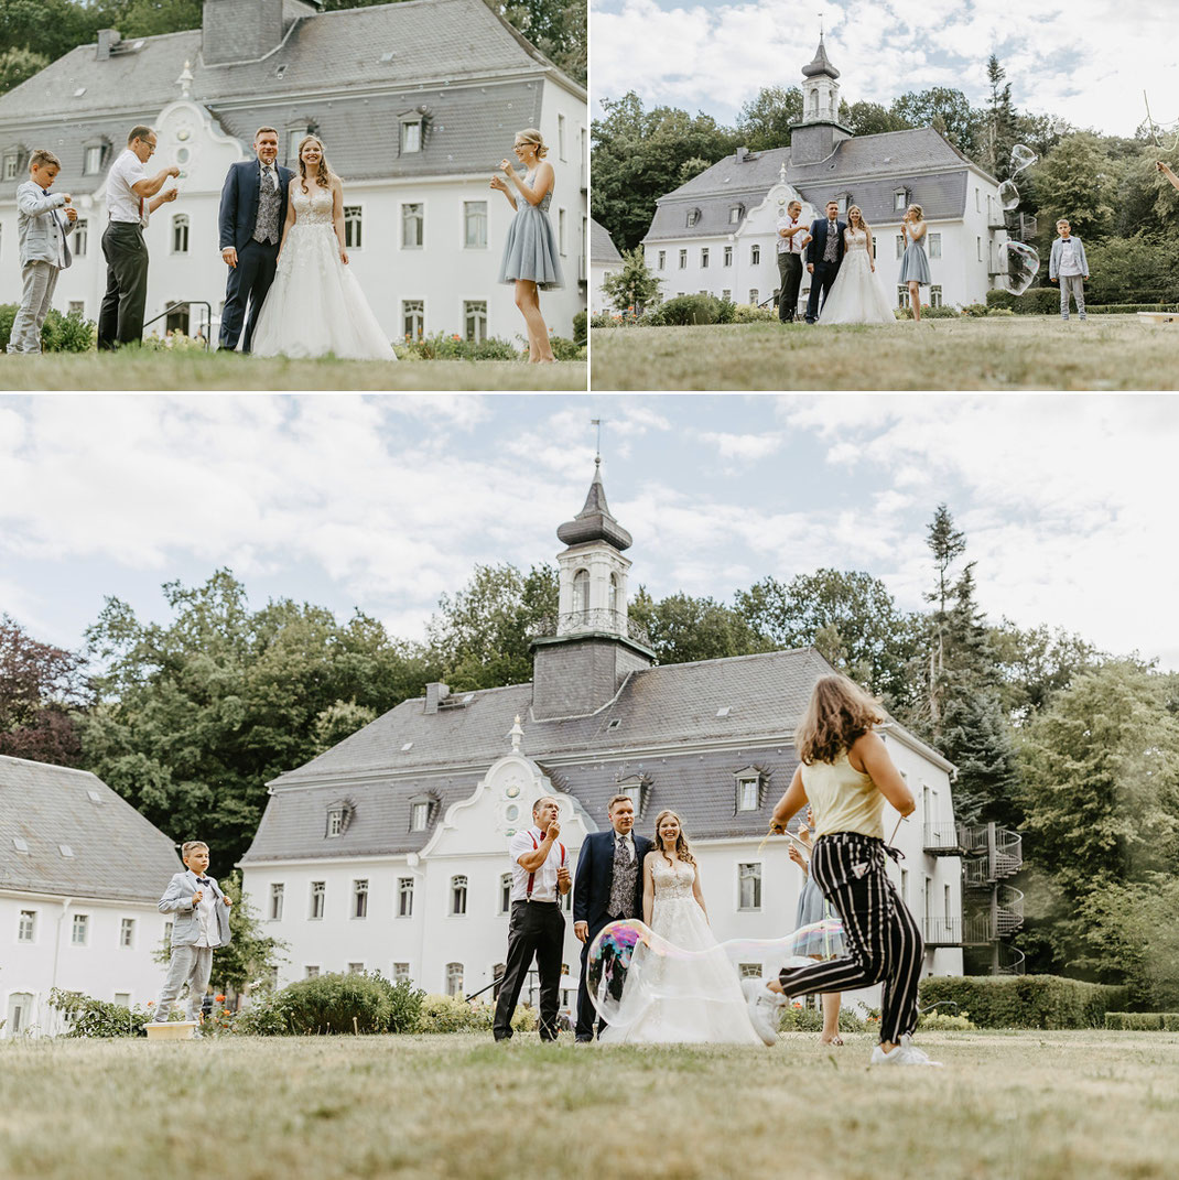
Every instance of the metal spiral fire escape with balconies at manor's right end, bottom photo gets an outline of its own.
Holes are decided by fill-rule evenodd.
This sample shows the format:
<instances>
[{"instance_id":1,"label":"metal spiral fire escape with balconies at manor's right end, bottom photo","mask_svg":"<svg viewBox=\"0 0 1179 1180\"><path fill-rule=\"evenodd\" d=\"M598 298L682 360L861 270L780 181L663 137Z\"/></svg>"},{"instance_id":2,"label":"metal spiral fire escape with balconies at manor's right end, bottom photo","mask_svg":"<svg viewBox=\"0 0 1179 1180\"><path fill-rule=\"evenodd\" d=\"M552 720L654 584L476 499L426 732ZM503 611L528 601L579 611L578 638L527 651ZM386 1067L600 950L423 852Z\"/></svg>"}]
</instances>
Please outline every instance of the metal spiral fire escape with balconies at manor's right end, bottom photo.
<instances>
[{"instance_id":1,"label":"metal spiral fire escape with balconies at manor's right end, bottom photo","mask_svg":"<svg viewBox=\"0 0 1179 1180\"><path fill-rule=\"evenodd\" d=\"M926 824L925 852L962 858L962 918L925 918L926 946L989 948L991 975L1023 975L1004 939L1023 925L1023 894L1007 879L1023 865L1023 838L997 824Z\"/></svg>"}]
</instances>

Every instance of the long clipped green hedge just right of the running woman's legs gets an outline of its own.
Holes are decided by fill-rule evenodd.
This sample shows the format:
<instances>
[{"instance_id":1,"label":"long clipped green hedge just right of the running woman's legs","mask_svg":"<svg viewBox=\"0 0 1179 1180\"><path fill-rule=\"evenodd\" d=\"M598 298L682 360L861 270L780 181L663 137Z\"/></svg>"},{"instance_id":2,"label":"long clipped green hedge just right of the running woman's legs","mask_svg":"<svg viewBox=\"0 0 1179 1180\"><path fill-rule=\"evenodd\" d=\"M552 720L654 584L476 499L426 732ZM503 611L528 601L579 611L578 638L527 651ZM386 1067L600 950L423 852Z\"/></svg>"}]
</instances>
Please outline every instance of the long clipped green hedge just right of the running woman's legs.
<instances>
[{"instance_id":1,"label":"long clipped green hedge just right of the running woman's legs","mask_svg":"<svg viewBox=\"0 0 1179 1180\"><path fill-rule=\"evenodd\" d=\"M1125 1007L1125 988L1063 979L1055 975L929 976L921 982L921 1005L958 1005L981 1029L1101 1028L1106 1012Z\"/></svg>"}]
</instances>

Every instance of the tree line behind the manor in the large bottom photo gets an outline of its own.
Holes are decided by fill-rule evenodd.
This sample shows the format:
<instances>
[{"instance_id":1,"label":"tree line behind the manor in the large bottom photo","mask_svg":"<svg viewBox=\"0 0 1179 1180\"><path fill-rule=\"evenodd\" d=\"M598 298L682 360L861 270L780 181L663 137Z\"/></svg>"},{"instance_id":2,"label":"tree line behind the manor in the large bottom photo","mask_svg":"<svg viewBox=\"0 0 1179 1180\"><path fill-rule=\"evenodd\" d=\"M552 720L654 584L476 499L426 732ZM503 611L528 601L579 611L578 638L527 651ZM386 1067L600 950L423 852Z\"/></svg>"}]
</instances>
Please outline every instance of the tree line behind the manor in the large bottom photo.
<instances>
[{"instance_id":1,"label":"tree line behind the manor in the large bottom photo","mask_svg":"<svg viewBox=\"0 0 1179 1180\"><path fill-rule=\"evenodd\" d=\"M959 821L1024 835L1028 969L1128 982L1179 1003L1179 674L1047 625L989 621L945 505L926 532L924 605L865 571L765 577L729 602L640 586L629 607L660 663L814 645L957 767ZM172 839L231 864L266 784L443 680L531 680L530 635L557 572L477 566L423 641L356 611L254 608L232 573L163 588L169 621L109 598L83 651L0 617L0 753L93 771Z\"/></svg>"}]
</instances>

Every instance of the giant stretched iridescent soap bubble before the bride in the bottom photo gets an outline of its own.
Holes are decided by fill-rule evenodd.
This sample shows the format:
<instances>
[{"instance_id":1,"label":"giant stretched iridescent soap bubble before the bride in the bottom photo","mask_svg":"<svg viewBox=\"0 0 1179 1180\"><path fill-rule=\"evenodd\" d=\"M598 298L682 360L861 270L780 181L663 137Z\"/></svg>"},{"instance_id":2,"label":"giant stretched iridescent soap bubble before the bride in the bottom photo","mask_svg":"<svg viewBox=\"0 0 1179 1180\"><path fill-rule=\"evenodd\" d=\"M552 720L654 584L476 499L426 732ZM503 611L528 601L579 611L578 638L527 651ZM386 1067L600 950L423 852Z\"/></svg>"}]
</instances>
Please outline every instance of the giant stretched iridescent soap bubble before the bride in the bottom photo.
<instances>
[{"instance_id":1,"label":"giant stretched iridescent soap bubble before the bride in the bottom photo","mask_svg":"<svg viewBox=\"0 0 1179 1180\"><path fill-rule=\"evenodd\" d=\"M598 1015L625 1030L651 999L690 999L700 1005L739 997L741 964L756 964L772 978L784 966L811 966L806 957L843 951L843 923L825 918L784 938L732 938L707 950L687 951L637 918L611 922L590 944L585 986Z\"/></svg>"}]
</instances>

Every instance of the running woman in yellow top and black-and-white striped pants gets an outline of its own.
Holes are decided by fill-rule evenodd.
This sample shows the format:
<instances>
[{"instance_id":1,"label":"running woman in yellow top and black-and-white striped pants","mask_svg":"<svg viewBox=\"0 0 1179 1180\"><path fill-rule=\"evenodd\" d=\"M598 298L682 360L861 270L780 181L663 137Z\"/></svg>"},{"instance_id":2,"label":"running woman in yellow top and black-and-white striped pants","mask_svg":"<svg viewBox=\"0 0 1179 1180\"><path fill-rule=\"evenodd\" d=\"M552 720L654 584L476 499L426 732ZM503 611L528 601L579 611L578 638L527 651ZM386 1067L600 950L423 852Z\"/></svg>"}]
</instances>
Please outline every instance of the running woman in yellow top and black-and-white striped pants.
<instances>
[{"instance_id":1,"label":"running woman in yellow top and black-and-white striped pants","mask_svg":"<svg viewBox=\"0 0 1179 1180\"><path fill-rule=\"evenodd\" d=\"M883 812L887 801L910 815L916 804L872 732L883 720L872 699L846 676L824 676L816 684L794 735L801 761L769 826L784 832L790 818L811 804L817 817L811 877L843 919L847 955L784 968L767 983L747 981L749 1018L766 1044L773 1044L778 1007L786 997L880 983L880 1043L871 1063L936 1066L910 1043L925 948L885 872L885 857L896 853L884 844Z\"/></svg>"}]
</instances>

